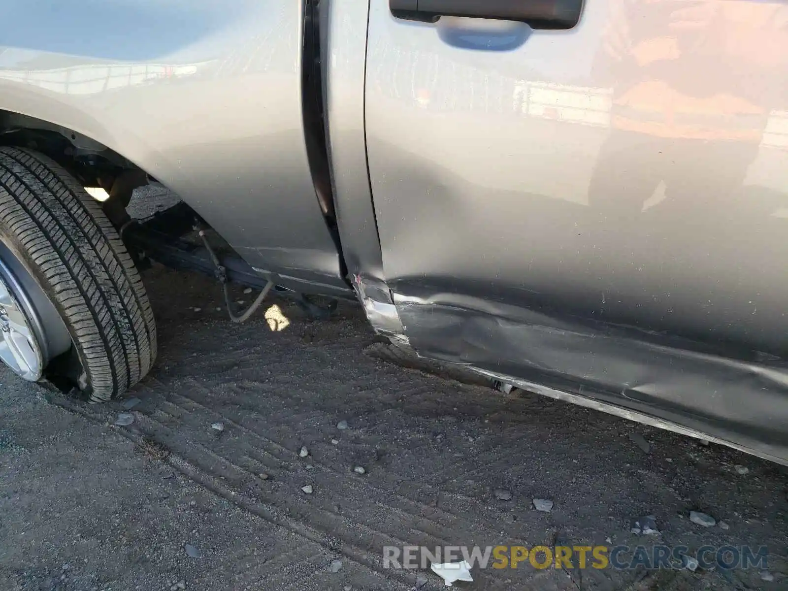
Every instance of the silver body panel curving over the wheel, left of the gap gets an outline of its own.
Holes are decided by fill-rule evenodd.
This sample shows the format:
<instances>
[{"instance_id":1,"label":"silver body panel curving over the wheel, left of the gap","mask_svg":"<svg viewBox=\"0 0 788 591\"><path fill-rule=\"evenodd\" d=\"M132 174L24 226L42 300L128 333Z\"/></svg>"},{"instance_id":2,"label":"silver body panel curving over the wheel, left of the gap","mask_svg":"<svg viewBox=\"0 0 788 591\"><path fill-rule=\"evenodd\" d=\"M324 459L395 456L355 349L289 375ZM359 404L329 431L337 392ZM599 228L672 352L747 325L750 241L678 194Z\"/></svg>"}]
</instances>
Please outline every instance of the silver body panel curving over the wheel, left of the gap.
<instances>
[{"instance_id":1,"label":"silver body panel curving over the wheel, left of the gap","mask_svg":"<svg viewBox=\"0 0 788 591\"><path fill-rule=\"evenodd\" d=\"M304 139L303 2L39 4L12 3L0 109L128 158L256 269L347 289Z\"/></svg>"}]
</instances>

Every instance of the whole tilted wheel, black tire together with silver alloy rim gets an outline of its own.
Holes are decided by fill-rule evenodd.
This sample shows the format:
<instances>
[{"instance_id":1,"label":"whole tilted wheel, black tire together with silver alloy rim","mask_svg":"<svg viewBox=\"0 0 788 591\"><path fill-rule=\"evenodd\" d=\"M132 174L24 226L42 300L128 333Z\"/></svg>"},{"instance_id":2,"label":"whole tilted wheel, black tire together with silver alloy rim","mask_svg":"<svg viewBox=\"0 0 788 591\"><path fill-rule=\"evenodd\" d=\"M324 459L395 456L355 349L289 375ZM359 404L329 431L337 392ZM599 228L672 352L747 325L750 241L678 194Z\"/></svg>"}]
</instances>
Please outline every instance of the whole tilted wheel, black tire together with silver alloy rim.
<instances>
[{"instance_id":1,"label":"whole tilted wheel, black tire together with silver alloy rim","mask_svg":"<svg viewBox=\"0 0 788 591\"><path fill-rule=\"evenodd\" d=\"M0 359L101 402L155 357L151 303L99 203L43 154L0 147Z\"/></svg>"}]
</instances>

